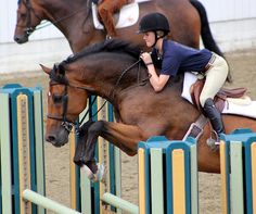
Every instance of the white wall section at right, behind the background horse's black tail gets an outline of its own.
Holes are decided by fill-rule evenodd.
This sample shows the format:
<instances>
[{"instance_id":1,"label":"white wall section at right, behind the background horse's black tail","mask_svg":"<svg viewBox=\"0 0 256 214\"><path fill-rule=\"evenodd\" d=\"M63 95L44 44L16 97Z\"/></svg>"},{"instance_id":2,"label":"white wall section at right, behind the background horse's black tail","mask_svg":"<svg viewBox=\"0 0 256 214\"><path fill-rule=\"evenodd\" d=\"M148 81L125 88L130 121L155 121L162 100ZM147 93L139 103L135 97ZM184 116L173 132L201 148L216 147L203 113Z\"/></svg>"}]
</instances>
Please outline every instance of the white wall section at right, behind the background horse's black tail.
<instances>
[{"instance_id":1,"label":"white wall section at right, behind the background horse's black tail","mask_svg":"<svg viewBox=\"0 0 256 214\"><path fill-rule=\"evenodd\" d=\"M201 0L214 38L223 51L256 47L255 0Z\"/></svg>"}]
</instances>

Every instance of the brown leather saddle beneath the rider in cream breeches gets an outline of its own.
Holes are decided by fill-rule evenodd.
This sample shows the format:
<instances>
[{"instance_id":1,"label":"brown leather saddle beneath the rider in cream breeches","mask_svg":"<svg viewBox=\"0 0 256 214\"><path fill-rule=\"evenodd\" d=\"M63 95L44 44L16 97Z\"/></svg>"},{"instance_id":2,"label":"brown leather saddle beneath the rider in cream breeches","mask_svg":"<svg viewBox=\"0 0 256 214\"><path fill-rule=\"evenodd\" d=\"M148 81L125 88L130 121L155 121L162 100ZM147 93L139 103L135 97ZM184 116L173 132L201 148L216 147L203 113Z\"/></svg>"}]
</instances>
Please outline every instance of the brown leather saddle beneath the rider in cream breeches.
<instances>
[{"instance_id":1,"label":"brown leather saddle beneath the rider in cream breeches","mask_svg":"<svg viewBox=\"0 0 256 214\"><path fill-rule=\"evenodd\" d=\"M203 112L203 109L200 104L200 95L202 92L204 84L205 79L197 79L190 88L192 101L201 112ZM228 98L242 98L245 95L246 90L247 89L243 87L233 89L221 88L214 98L215 106L219 110L219 112L222 112L225 102Z\"/></svg>"}]
</instances>

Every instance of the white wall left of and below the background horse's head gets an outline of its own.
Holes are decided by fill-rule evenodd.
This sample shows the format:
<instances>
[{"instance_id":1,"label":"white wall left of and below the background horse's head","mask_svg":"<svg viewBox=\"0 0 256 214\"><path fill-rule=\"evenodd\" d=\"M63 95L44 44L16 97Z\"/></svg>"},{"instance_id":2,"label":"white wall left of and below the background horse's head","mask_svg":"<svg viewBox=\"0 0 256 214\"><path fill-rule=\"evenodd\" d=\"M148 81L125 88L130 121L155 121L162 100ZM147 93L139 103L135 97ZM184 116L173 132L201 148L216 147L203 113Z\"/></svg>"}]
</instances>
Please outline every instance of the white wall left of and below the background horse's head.
<instances>
[{"instance_id":1,"label":"white wall left of and below the background horse's head","mask_svg":"<svg viewBox=\"0 0 256 214\"><path fill-rule=\"evenodd\" d=\"M14 42L17 1L1 0L1 3L0 74L37 71L40 63L51 66L72 53L66 39L53 25L36 30L24 45Z\"/></svg>"}]
</instances>

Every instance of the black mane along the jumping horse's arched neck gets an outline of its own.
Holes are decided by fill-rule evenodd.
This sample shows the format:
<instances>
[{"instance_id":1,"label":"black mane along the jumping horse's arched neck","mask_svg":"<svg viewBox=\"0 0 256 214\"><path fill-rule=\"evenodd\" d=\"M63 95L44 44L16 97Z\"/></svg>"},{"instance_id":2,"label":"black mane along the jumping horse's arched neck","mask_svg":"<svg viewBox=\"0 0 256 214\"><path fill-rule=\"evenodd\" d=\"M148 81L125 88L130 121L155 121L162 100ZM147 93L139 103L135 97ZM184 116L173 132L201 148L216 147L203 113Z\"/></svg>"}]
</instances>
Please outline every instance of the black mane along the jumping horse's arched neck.
<instances>
[{"instance_id":1,"label":"black mane along the jumping horse's arched neck","mask_svg":"<svg viewBox=\"0 0 256 214\"><path fill-rule=\"evenodd\" d=\"M139 55L141 53L141 49L139 46L132 45L128 41L120 40L120 39L110 39L105 40L103 42L99 42L92 46L86 47L80 52L68 56L65 61L63 61L65 64L72 63L77 61L80 58L84 58L86 55L99 53L99 52L117 52L117 53L126 53L135 59L139 59Z\"/></svg>"}]
</instances>

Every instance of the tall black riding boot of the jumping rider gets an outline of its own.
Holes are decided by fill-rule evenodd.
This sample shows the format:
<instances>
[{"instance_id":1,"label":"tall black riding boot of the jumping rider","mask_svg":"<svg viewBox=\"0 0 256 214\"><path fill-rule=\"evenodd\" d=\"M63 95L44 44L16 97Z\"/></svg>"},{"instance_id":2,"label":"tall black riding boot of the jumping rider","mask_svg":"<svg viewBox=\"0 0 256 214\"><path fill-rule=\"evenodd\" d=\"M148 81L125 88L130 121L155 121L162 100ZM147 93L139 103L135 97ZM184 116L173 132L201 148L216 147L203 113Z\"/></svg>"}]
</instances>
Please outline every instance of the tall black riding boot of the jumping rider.
<instances>
[{"instance_id":1,"label":"tall black riding boot of the jumping rider","mask_svg":"<svg viewBox=\"0 0 256 214\"><path fill-rule=\"evenodd\" d=\"M222 122L220 112L217 110L217 108L214 104L213 99L208 98L205 101L204 112L205 112L206 116L209 118L210 124L212 124L213 128L215 129L215 131L218 134L218 136L220 134L222 134L225 131L223 130L223 122Z\"/></svg>"}]
</instances>

